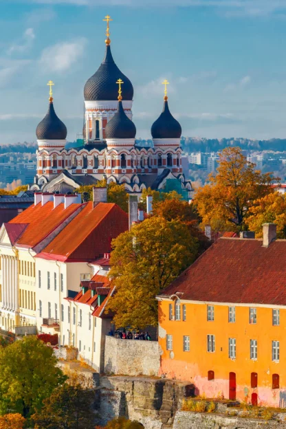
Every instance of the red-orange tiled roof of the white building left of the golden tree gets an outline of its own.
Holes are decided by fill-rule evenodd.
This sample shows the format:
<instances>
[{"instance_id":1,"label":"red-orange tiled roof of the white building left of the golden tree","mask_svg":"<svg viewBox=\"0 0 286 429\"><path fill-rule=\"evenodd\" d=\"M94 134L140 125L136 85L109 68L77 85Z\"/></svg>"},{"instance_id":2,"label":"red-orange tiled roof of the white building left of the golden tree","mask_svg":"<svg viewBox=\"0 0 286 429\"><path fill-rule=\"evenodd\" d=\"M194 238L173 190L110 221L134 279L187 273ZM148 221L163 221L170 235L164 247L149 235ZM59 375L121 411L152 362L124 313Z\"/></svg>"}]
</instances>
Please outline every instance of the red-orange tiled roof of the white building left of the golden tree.
<instances>
[{"instance_id":1,"label":"red-orange tiled roof of the white building left of the golden tree","mask_svg":"<svg viewBox=\"0 0 286 429\"><path fill-rule=\"evenodd\" d=\"M114 203L91 201L37 257L94 261L109 252L111 239L128 230L128 215Z\"/></svg>"}]
</instances>

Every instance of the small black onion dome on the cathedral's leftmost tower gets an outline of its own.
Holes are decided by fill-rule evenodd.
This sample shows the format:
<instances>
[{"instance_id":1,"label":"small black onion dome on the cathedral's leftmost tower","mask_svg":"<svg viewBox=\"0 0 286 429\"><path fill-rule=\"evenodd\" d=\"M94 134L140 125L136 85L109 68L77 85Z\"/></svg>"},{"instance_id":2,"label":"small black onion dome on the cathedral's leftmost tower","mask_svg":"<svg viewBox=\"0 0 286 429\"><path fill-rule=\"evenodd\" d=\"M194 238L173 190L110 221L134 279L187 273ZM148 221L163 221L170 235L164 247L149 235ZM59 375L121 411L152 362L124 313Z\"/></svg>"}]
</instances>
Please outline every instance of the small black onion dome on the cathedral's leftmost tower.
<instances>
[{"instance_id":1,"label":"small black onion dome on the cathedral's leftmost tower","mask_svg":"<svg viewBox=\"0 0 286 429\"><path fill-rule=\"evenodd\" d=\"M67 137L67 127L56 115L53 102L50 102L47 115L36 127L36 138L38 140L65 140L65 137Z\"/></svg>"}]
</instances>

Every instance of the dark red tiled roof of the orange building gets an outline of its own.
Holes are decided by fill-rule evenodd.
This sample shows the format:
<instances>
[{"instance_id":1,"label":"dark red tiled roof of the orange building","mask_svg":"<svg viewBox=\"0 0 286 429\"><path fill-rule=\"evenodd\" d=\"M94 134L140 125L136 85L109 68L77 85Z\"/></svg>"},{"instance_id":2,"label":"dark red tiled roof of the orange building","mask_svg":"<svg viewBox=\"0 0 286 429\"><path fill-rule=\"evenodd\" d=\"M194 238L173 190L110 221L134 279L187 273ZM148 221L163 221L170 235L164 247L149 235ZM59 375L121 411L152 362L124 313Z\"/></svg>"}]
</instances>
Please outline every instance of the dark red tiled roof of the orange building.
<instances>
[{"instance_id":1,"label":"dark red tiled roof of the orange building","mask_svg":"<svg viewBox=\"0 0 286 429\"><path fill-rule=\"evenodd\" d=\"M284 260L285 259L285 260ZM286 305L286 240L217 240L160 296L213 303Z\"/></svg>"}]
</instances>

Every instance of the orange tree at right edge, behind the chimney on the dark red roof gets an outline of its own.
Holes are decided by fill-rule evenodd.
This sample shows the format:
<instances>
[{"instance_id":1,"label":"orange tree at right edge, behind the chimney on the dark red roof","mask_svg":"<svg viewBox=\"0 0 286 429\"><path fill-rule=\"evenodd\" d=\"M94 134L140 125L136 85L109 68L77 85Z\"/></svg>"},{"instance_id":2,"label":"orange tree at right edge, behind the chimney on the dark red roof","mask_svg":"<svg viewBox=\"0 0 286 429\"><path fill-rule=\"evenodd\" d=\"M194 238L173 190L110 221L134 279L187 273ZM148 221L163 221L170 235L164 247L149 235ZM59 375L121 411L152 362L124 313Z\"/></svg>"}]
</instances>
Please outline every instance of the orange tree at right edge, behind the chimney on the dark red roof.
<instances>
[{"instance_id":1,"label":"orange tree at right edge, behind the chimney on the dark red roof","mask_svg":"<svg viewBox=\"0 0 286 429\"><path fill-rule=\"evenodd\" d=\"M276 223L279 239L286 238L286 195L280 192L265 195L256 199L250 207L248 218L245 220L250 231L255 232L256 238L263 235L263 223Z\"/></svg>"}]
</instances>

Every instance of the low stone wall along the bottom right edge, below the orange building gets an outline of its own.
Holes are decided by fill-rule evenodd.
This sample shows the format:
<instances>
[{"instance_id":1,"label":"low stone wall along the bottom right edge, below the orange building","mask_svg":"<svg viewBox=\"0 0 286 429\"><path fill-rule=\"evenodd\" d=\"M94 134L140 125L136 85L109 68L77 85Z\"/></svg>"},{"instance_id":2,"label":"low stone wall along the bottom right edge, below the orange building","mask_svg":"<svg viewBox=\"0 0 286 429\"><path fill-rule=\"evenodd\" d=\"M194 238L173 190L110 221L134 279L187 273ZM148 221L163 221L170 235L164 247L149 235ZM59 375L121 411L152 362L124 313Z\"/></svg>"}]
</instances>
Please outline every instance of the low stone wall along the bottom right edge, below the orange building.
<instances>
[{"instance_id":1,"label":"low stone wall along the bottom right edge, below the orange building","mask_svg":"<svg viewBox=\"0 0 286 429\"><path fill-rule=\"evenodd\" d=\"M286 423L177 411L173 429L285 429Z\"/></svg>"}]
</instances>

